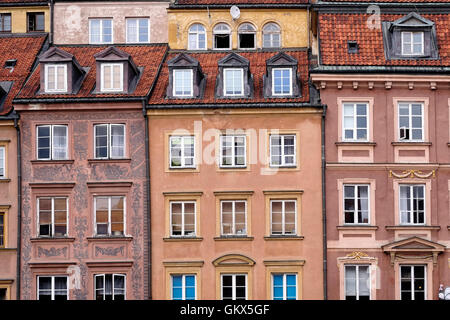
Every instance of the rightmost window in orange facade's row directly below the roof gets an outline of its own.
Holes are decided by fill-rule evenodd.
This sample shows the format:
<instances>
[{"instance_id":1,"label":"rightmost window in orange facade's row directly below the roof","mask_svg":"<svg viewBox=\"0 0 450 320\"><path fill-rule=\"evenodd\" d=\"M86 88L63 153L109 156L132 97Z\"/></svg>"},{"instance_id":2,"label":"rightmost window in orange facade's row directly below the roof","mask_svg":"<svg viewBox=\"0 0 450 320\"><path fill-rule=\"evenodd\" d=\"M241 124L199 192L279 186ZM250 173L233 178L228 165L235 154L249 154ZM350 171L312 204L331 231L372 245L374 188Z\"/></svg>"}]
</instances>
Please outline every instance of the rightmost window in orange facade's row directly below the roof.
<instances>
[{"instance_id":1,"label":"rightmost window in orange facade's row directly below the roof","mask_svg":"<svg viewBox=\"0 0 450 320\"><path fill-rule=\"evenodd\" d=\"M270 166L296 166L296 136L270 135Z\"/></svg>"}]
</instances>

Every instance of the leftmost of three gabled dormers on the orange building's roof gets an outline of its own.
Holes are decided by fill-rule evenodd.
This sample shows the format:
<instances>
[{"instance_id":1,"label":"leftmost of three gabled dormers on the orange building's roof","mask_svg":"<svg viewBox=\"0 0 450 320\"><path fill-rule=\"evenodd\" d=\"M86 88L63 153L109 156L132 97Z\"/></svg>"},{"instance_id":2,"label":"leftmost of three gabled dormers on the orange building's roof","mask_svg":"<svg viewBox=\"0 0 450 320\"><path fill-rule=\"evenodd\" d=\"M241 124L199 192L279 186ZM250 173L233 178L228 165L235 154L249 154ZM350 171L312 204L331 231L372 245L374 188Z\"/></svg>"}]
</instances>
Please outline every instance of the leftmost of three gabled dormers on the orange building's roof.
<instances>
[{"instance_id":1,"label":"leftmost of three gabled dormers on the orange building's roof","mask_svg":"<svg viewBox=\"0 0 450 320\"><path fill-rule=\"evenodd\" d=\"M169 85L166 94L169 99L199 98L203 95L206 81L198 60L180 53L169 60L167 65Z\"/></svg>"}]
</instances>

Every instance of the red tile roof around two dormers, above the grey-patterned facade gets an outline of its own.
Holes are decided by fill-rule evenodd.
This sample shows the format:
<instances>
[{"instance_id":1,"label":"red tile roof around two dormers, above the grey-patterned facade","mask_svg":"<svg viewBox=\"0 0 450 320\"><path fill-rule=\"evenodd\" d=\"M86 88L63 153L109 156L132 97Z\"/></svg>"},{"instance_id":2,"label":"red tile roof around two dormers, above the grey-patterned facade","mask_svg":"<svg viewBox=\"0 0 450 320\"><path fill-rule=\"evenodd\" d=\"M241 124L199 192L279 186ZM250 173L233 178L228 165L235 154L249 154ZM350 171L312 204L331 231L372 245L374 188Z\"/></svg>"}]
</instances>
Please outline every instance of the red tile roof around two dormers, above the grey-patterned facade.
<instances>
[{"instance_id":1,"label":"red tile roof around two dormers, above the grey-patterned facade","mask_svg":"<svg viewBox=\"0 0 450 320\"><path fill-rule=\"evenodd\" d=\"M37 94L40 86L40 66L36 68L29 81L25 84L18 99L58 99L58 98L111 98L111 97L145 97L155 81L159 66L167 51L167 45L153 44L153 45L127 45L116 46L118 49L127 52L133 58L137 67L143 67L143 74L141 75L136 89L131 94L125 93L92 93L96 85L96 63L94 55L107 46L58 46L58 48L71 53L75 56L78 63L82 67L89 67L89 72L80 90L77 94Z\"/></svg>"}]
</instances>

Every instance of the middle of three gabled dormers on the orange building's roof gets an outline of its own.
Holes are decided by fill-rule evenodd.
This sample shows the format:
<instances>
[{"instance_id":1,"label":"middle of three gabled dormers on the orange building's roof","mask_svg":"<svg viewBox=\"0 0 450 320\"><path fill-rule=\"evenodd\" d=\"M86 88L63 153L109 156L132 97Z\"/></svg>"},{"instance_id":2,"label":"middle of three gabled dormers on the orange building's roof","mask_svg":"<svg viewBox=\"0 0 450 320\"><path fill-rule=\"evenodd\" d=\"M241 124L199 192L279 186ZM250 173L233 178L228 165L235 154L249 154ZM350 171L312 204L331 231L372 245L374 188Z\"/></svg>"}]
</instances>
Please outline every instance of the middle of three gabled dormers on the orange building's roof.
<instances>
[{"instance_id":1,"label":"middle of three gabled dormers on the orange building's roof","mask_svg":"<svg viewBox=\"0 0 450 320\"><path fill-rule=\"evenodd\" d=\"M216 98L249 98L253 96L253 76L250 61L230 53L218 61Z\"/></svg>"}]
</instances>

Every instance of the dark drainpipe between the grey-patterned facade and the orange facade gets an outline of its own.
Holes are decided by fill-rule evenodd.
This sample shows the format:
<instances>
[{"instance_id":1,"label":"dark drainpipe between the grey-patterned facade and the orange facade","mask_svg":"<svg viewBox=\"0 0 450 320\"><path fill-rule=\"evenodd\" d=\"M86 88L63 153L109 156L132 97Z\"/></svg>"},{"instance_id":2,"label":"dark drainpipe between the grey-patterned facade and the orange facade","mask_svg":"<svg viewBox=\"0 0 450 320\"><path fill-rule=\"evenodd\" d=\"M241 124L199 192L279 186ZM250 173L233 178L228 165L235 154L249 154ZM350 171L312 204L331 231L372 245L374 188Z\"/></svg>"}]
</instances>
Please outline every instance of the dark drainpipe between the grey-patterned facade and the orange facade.
<instances>
[{"instance_id":1,"label":"dark drainpipe between the grey-patterned facade and the orange facade","mask_svg":"<svg viewBox=\"0 0 450 320\"><path fill-rule=\"evenodd\" d=\"M148 292L147 297L152 300L152 232L151 232L151 207L150 207L150 148L149 148L149 130L148 116L146 110L147 101L142 100L142 113L145 121L145 174L146 174L146 197L147 197L147 241L148 241Z\"/></svg>"}]
</instances>

